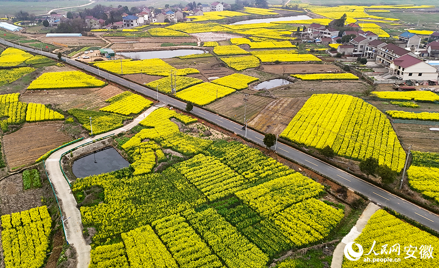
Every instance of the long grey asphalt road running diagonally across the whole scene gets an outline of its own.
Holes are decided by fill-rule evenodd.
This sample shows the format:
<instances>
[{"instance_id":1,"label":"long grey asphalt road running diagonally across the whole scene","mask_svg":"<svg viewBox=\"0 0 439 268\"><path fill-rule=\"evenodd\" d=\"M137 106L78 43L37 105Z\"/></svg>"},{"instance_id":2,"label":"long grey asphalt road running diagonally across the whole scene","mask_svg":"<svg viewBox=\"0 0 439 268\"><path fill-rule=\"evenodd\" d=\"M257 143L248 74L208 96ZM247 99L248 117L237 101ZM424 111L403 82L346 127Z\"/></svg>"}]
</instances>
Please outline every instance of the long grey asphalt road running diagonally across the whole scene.
<instances>
[{"instance_id":1,"label":"long grey asphalt road running diagonally across the whole scene","mask_svg":"<svg viewBox=\"0 0 439 268\"><path fill-rule=\"evenodd\" d=\"M18 45L10 43L8 41L0 39L0 42L3 44L6 44L8 46L12 47L18 47ZM22 49L28 50L30 52L39 53L41 54L41 51L36 51L32 48L27 48L21 46ZM43 55L49 56L52 58L57 58L55 54L50 54L47 52L42 52ZM147 89L146 87L140 86L138 84L128 82L125 79L120 78L119 76L99 71L96 68L93 68L87 64L80 63L76 60L67 59L67 63L74 65L76 67L79 67L85 71L89 71L91 73L94 73L96 75L99 75L100 77L109 79L112 82L118 83L124 87L127 87L129 89L133 89L141 94L144 94L148 97L151 97L153 99L159 99L161 102L167 103L170 106L177 107L179 109L184 109L186 107L186 104L173 99L171 97L167 97L166 95L161 94L160 92L157 93L154 90ZM158 97L157 97L158 96ZM194 107L192 112L199 116L200 118L203 118L209 122L215 123L217 125L220 125L221 127L228 129L230 131L235 132L236 134L239 134L241 136L245 136L245 131L241 129L242 125L239 125L233 121L230 121L228 119L225 119L217 114L211 113L209 111L206 111L204 109ZM254 143L258 143L260 145L263 145L262 139L264 136L256 131L253 131L251 129L247 129L247 139L253 141ZM285 145L283 143L278 143L277 145L277 153L283 157L292 159L293 161L296 161L297 163L306 166L312 170L317 171L318 173L331 178L340 184L348 187L351 190L357 191L364 196L368 197L370 200L372 200L375 203L380 204L381 206L389 207L400 214L403 214L411 219L414 219L415 221L420 222L421 224L439 232L439 216L437 214L433 214L411 202L406 201L405 199L402 199L400 197L397 197L385 190L382 190L381 188L370 184L362 179L359 179L355 176L352 176L351 174L344 172L332 165L329 165L323 161L320 161L312 156L309 156L305 153L302 153L288 145Z\"/></svg>"}]
</instances>

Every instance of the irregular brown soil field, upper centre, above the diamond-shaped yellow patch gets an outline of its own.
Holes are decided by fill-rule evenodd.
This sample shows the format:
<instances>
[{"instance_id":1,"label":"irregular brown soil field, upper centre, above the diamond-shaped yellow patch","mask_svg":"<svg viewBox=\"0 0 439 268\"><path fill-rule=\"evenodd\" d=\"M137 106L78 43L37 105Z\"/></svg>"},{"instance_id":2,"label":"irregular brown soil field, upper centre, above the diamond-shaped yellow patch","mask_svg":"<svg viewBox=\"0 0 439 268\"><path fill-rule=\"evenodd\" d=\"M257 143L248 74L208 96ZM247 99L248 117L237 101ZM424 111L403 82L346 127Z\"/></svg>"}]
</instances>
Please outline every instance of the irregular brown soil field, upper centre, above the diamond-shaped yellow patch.
<instances>
[{"instance_id":1,"label":"irregular brown soil field, upper centre, above the diamond-shaped yellow patch","mask_svg":"<svg viewBox=\"0 0 439 268\"><path fill-rule=\"evenodd\" d=\"M224 63L219 61L216 57L194 58L194 59L179 59L169 58L163 59L170 65L177 69L195 68L200 71L200 75L189 75L207 81L209 77L223 77L236 71L224 67ZM204 78L204 79L203 79Z\"/></svg>"}]
</instances>

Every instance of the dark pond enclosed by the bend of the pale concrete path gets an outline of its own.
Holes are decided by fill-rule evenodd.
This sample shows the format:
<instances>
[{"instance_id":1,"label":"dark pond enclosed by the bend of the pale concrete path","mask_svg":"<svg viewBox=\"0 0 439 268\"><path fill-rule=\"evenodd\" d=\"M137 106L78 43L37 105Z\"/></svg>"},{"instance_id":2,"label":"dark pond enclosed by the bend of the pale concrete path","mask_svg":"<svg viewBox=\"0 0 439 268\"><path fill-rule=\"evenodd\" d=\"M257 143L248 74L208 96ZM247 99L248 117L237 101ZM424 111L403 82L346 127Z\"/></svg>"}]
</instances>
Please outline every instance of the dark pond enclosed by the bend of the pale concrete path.
<instances>
[{"instance_id":1,"label":"dark pond enclosed by the bend of the pale concrete path","mask_svg":"<svg viewBox=\"0 0 439 268\"><path fill-rule=\"evenodd\" d=\"M72 171L76 178L107 173L129 166L119 152L113 147L85 155L73 162Z\"/></svg>"}]
</instances>

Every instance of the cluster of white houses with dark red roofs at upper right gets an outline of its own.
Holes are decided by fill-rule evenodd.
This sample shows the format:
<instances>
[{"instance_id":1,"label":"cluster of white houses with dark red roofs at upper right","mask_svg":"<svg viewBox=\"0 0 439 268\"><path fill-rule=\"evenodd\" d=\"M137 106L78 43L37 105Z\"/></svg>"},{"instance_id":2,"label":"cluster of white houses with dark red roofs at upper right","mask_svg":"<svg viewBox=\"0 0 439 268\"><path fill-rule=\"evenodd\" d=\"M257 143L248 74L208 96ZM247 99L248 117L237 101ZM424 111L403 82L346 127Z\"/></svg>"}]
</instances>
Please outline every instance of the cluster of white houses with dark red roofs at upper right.
<instances>
[{"instance_id":1,"label":"cluster of white houses with dark red roofs at upper right","mask_svg":"<svg viewBox=\"0 0 439 268\"><path fill-rule=\"evenodd\" d=\"M393 43L385 43L378 39L377 34L362 31L356 23L347 24L346 27L354 30L343 31L340 37L339 30L313 23L301 33L301 36L302 39L307 38L322 45L343 43L337 47L336 51L328 51L328 54L332 56L338 54L375 59L376 62L389 69L389 72L380 76L382 80L413 79L433 81L437 84L438 69L419 58L439 56L439 32L431 34L428 39L432 41L427 42L422 48L421 37L413 33L404 32Z\"/></svg>"}]
</instances>

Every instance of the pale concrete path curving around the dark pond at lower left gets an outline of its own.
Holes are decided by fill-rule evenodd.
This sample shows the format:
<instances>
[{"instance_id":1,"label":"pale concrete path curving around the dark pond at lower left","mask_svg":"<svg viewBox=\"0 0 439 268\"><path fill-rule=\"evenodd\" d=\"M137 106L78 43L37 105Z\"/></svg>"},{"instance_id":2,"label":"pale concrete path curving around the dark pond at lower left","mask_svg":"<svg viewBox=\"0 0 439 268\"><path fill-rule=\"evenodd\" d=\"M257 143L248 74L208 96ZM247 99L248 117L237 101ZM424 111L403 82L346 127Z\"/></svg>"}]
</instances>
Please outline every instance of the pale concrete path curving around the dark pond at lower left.
<instances>
[{"instance_id":1,"label":"pale concrete path curving around the dark pond at lower left","mask_svg":"<svg viewBox=\"0 0 439 268\"><path fill-rule=\"evenodd\" d=\"M92 138L88 138L85 140L82 140L78 143L73 143L69 146L66 146L59 151L56 151L53 153L46 161L46 170L49 175L49 179L52 181L53 187L55 189L55 192L57 194L58 200L61 205L62 215L64 216L64 219L67 219L64 222L65 227L65 233L66 233L66 239L69 242L69 244L76 249L76 252L78 253L78 265L77 268L88 268L90 263L90 245L87 245L85 243L84 237L82 236L82 221L81 221L81 214L80 210L77 208L77 202L75 200L75 197L73 196L73 193L69 187L69 183L62 175L59 160L63 153L67 152L68 150L75 148L76 146L79 146L81 144L87 143L90 140L96 140L101 137L110 135L110 134L119 134L120 132L124 132L127 130L130 130L134 126L138 125L141 120L143 120L146 116L148 116L152 111L155 109L164 106L161 103L156 104L153 107L150 107L145 112L140 114L136 119L133 120L128 125L124 125L123 127L120 127L118 129L115 129L110 132L102 133L97 136L93 136Z\"/></svg>"}]
</instances>

